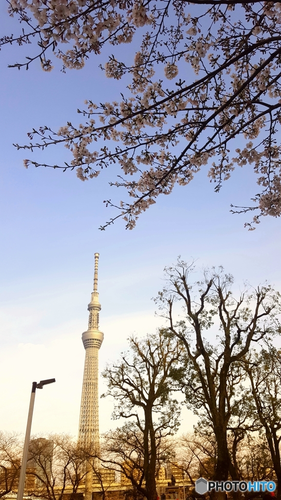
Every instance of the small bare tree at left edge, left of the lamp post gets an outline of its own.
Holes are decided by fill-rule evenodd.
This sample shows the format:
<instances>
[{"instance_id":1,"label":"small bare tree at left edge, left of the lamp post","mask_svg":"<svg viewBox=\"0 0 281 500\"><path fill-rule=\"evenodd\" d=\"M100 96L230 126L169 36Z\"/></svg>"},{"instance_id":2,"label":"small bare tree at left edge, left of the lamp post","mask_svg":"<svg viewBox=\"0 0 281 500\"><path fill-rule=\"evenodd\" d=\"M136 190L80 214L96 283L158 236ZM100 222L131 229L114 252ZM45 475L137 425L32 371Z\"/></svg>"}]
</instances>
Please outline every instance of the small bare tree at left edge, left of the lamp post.
<instances>
[{"instance_id":1,"label":"small bare tree at left edge, left of the lamp post","mask_svg":"<svg viewBox=\"0 0 281 500\"><path fill-rule=\"evenodd\" d=\"M18 435L0 431L0 498L17 488L21 452Z\"/></svg>"}]
</instances>

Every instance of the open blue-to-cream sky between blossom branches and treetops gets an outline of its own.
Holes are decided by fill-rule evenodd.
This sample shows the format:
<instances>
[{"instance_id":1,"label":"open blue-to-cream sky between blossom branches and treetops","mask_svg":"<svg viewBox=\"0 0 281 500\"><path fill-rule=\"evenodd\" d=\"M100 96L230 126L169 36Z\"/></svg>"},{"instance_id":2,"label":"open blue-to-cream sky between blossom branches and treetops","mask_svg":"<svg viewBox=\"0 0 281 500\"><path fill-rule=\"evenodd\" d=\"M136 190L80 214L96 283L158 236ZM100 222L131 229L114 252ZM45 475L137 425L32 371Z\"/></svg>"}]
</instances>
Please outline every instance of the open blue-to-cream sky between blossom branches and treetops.
<instances>
[{"instance_id":1,"label":"open blue-to-cream sky between blossom branches and treetops","mask_svg":"<svg viewBox=\"0 0 281 500\"><path fill-rule=\"evenodd\" d=\"M2 34L18 30L5 2L0 25ZM8 46L0 52L0 429L23 432L31 382L55 377L55 384L37 391L32 431L76 435L94 252L100 254L102 368L126 348L132 332L142 335L161 324L151 297L163 284L163 267L179 254L198 259L199 266L222 264L237 289L243 280L256 285L265 279L281 289L280 219L267 217L255 231L244 229L250 216L232 215L229 205L247 204L256 192L251 167L238 168L218 194L203 167L189 186L159 197L132 231L122 221L99 231L115 213L103 199L124 198L108 186L118 173L114 167L87 182L74 172L26 170L22 159L30 153L12 143L25 143L26 132L42 124L79 123L76 109L84 99L118 100L124 82L105 78L98 69L104 57L66 74L58 61L51 73L36 63L28 71L7 68L31 51ZM62 163L66 153L54 148L44 158ZM111 409L112 401L101 400L101 431L112 425ZM183 412L182 430L193 421Z\"/></svg>"}]
</instances>

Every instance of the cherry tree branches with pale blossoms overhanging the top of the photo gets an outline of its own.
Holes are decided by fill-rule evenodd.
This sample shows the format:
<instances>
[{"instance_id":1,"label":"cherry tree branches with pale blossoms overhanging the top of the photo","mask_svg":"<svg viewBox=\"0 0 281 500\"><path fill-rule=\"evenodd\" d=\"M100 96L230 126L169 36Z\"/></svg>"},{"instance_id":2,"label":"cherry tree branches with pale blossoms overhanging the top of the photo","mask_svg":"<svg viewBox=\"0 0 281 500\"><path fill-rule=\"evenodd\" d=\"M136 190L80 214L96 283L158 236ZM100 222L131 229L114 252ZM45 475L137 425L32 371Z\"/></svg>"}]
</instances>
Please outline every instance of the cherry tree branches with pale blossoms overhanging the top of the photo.
<instances>
[{"instance_id":1,"label":"cherry tree branches with pale blossoms overhanging the top of the photo","mask_svg":"<svg viewBox=\"0 0 281 500\"><path fill-rule=\"evenodd\" d=\"M42 126L28 133L31 143L16 144L31 151L65 145L73 159L66 157L62 165L30 159L24 164L76 168L81 180L118 163L119 175L111 184L123 187L128 199L114 205L119 213L102 228L120 216L132 228L159 194L168 194L176 183L188 184L208 162L215 191L236 165L253 164L258 192L252 204L233 211L255 210L255 223L262 215L280 215L278 2L9 0L8 4L10 15L20 21L20 31L2 36L0 45L37 43L38 47L13 67L28 68L38 60L50 71L49 52L53 52L63 70L79 69L91 53L98 54L109 44L115 55L103 63L106 76L130 77L119 102L86 101L78 112L88 119L80 125L67 122L59 130ZM119 45L130 43L136 31L140 37L128 60L128 51ZM104 145L104 139L113 140L112 146ZM110 200L107 204L113 205Z\"/></svg>"}]
</instances>

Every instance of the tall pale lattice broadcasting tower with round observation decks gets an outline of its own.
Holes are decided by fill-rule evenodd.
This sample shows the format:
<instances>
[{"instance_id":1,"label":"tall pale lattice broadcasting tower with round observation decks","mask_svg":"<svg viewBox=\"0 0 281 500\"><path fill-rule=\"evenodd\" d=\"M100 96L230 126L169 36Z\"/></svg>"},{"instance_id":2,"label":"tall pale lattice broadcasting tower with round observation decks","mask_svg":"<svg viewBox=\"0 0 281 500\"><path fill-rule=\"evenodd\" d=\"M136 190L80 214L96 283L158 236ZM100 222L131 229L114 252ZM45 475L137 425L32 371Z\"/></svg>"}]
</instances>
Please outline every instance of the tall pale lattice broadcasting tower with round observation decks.
<instances>
[{"instance_id":1,"label":"tall pale lattice broadcasting tower with round observation decks","mask_svg":"<svg viewBox=\"0 0 281 500\"><path fill-rule=\"evenodd\" d=\"M101 309L97 293L98 253L94 254L93 291L88 304L88 329L82 333L85 348L85 365L79 418L78 439L84 444L99 445L98 434L98 350L102 344L103 333L98 329L98 316Z\"/></svg>"}]
</instances>

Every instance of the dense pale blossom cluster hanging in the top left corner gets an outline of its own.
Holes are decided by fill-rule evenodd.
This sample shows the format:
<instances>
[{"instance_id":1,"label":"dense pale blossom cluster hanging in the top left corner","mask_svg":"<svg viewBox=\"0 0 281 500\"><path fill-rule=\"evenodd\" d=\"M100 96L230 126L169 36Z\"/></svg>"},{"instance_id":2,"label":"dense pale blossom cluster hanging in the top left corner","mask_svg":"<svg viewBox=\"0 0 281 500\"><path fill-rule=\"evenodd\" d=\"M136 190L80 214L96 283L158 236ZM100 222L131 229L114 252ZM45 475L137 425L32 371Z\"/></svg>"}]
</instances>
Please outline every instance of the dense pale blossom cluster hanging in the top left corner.
<instances>
[{"instance_id":1,"label":"dense pale blossom cluster hanging in the top left corner","mask_svg":"<svg viewBox=\"0 0 281 500\"><path fill-rule=\"evenodd\" d=\"M19 44L30 42L38 34L41 47L41 66L45 71L52 69L46 50L52 46L66 68L80 69L84 56L89 52L99 53L104 39L112 44L130 43L135 28L151 25L153 15L144 2L105 0L10 0L9 12L19 14L21 22L31 14L37 23L33 31L16 38ZM0 42L5 43L3 37ZM60 43L71 43L73 48L55 51ZM20 67L20 64L18 65Z\"/></svg>"}]
</instances>

